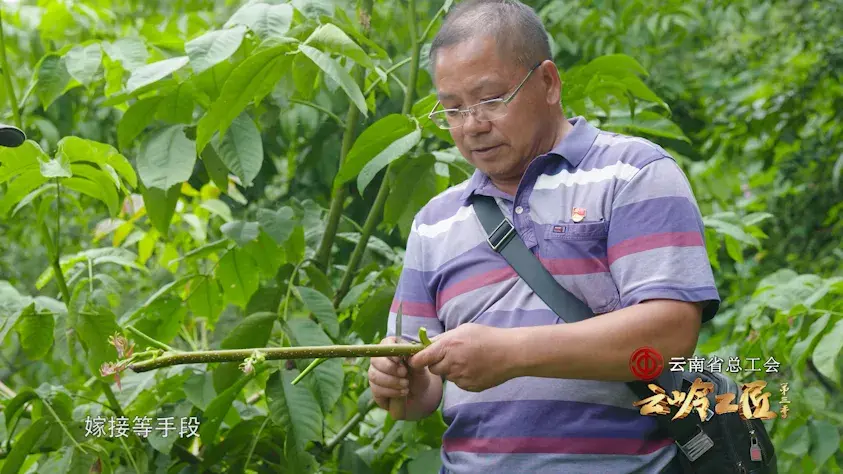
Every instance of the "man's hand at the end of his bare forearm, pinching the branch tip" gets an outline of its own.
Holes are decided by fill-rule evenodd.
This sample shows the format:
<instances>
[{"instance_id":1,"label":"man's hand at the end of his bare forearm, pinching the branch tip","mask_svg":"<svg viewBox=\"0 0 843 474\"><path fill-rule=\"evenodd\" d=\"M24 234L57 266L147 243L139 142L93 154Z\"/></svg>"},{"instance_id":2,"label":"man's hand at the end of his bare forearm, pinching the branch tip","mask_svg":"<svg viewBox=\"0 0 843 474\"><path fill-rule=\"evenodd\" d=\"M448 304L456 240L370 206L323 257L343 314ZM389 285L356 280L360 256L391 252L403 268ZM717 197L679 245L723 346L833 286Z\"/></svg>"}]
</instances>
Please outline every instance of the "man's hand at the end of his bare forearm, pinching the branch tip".
<instances>
[{"instance_id":1,"label":"man's hand at the end of his bare forearm, pinching the branch tip","mask_svg":"<svg viewBox=\"0 0 843 474\"><path fill-rule=\"evenodd\" d=\"M515 347L506 329L466 323L432 339L409 359L413 369L430 370L469 392L480 392L514 378Z\"/></svg>"}]
</instances>

